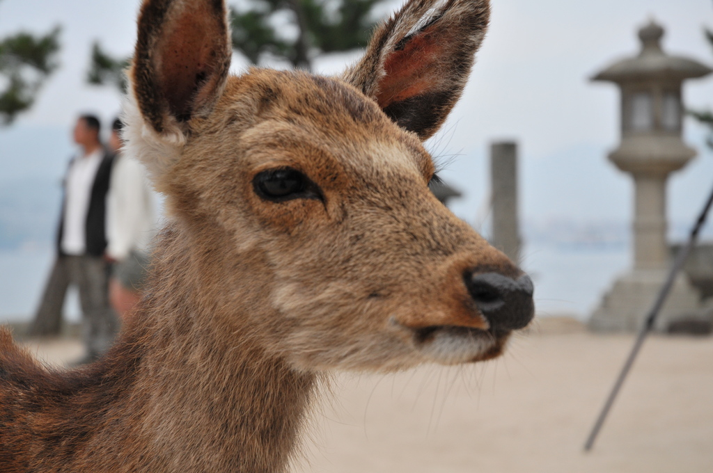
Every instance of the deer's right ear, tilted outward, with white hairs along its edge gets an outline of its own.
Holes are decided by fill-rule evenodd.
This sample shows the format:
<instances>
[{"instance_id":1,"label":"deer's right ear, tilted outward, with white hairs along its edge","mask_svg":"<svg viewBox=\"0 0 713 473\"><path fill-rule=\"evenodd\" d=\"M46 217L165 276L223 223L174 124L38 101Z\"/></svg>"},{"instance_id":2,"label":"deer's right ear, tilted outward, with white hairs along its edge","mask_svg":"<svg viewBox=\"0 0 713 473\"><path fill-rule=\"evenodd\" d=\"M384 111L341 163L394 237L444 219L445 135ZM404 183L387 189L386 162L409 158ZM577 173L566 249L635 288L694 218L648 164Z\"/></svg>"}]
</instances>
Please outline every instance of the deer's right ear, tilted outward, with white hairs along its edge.
<instances>
[{"instance_id":1,"label":"deer's right ear, tilted outward, with white hairs along its edge","mask_svg":"<svg viewBox=\"0 0 713 473\"><path fill-rule=\"evenodd\" d=\"M343 78L426 140L460 98L489 16L488 0L411 0Z\"/></svg>"}]
</instances>

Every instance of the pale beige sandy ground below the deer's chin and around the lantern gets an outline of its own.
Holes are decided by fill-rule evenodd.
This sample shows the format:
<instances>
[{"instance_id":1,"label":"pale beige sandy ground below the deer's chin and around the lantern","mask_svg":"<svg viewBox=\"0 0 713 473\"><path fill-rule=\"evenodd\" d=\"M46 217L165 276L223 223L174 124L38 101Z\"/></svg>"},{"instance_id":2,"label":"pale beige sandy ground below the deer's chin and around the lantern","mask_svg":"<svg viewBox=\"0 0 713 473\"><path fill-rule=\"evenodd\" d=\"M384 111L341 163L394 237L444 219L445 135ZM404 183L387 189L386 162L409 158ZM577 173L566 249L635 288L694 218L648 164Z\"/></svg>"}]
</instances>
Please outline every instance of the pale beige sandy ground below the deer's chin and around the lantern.
<instances>
[{"instance_id":1,"label":"pale beige sandy ground below the deer's chin and around the lantern","mask_svg":"<svg viewBox=\"0 0 713 473\"><path fill-rule=\"evenodd\" d=\"M490 363L338 375L294 472L713 472L713 338L652 336L583 453L632 340L545 320Z\"/></svg>"}]
</instances>

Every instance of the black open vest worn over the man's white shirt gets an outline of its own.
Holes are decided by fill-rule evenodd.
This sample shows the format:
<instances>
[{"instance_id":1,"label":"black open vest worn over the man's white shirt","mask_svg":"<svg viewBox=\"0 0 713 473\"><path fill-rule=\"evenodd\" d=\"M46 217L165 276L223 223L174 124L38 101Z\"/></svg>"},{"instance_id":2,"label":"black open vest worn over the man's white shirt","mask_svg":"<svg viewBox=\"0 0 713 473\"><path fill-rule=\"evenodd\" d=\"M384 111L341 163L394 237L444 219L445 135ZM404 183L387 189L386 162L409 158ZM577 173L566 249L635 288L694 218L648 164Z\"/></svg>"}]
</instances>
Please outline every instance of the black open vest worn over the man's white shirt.
<instances>
[{"instance_id":1,"label":"black open vest worn over the man's white shirt","mask_svg":"<svg viewBox=\"0 0 713 473\"><path fill-rule=\"evenodd\" d=\"M89 208L85 224L86 254L91 256L102 256L106 249L106 194L109 191L109 180L111 179L111 164L114 155L104 150L101 164L96 170L94 183L91 187L91 197L89 197ZM74 160L71 160L71 167ZM62 251L62 234L64 231L64 207L66 205L66 180L64 182L64 197L62 199L62 213L59 217L59 230L57 232L57 251Z\"/></svg>"}]
</instances>

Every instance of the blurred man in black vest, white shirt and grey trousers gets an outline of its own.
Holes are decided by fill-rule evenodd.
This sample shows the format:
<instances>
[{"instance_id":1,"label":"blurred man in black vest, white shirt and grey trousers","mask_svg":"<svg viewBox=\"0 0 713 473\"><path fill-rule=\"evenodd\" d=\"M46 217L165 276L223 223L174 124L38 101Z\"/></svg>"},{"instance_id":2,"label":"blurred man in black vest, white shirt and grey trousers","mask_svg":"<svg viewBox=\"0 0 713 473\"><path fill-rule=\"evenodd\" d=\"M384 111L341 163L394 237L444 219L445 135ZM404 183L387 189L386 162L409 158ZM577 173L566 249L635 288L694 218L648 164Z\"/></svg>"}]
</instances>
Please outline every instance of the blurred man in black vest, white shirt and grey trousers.
<instances>
[{"instance_id":1,"label":"blurred man in black vest, white shirt and grey trousers","mask_svg":"<svg viewBox=\"0 0 713 473\"><path fill-rule=\"evenodd\" d=\"M58 256L45 291L45 296L53 298L45 308L55 308L61 317L60 303L67 287L78 288L86 348L86 355L79 363L91 362L105 353L118 329L118 319L109 306L108 264L103 258L113 155L99 140L100 128L94 115L81 115L74 127L73 139L79 150L63 181Z\"/></svg>"}]
</instances>

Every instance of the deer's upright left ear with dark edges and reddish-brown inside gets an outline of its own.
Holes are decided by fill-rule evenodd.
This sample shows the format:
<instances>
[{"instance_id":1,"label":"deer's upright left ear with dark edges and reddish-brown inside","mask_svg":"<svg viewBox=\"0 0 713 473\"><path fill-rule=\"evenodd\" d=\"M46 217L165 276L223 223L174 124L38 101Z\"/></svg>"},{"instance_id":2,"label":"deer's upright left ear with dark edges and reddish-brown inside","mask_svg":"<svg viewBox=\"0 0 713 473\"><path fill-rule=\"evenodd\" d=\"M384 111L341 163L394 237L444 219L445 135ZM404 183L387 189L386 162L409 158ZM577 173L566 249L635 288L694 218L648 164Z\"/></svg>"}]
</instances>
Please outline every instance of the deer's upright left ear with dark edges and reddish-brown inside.
<instances>
[{"instance_id":1,"label":"deer's upright left ear with dark edges and reddish-brown inside","mask_svg":"<svg viewBox=\"0 0 713 473\"><path fill-rule=\"evenodd\" d=\"M129 72L145 123L159 135L187 132L220 97L231 53L222 0L145 0Z\"/></svg>"}]
</instances>

